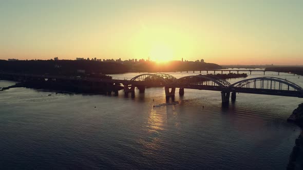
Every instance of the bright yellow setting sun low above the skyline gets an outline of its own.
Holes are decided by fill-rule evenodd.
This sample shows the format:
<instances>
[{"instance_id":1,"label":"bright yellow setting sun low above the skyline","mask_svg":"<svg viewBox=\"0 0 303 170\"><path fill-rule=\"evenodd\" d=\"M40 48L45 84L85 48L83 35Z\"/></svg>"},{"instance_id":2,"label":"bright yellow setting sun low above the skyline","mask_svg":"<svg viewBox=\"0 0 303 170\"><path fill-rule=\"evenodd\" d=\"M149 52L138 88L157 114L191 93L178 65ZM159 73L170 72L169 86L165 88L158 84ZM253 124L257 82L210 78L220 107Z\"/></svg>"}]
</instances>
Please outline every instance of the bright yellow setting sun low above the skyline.
<instances>
[{"instance_id":1,"label":"bright yellow setting sun low above the skyline","mask_svg":"<svg viewBox=\"0 0 303 170\"><path fill-rule=\"evenodd\" d=\"M173 60L173 50L169 46L157 45L150 50L150 59L156 62L167 62Z\"/></svg>"}]
</instances>

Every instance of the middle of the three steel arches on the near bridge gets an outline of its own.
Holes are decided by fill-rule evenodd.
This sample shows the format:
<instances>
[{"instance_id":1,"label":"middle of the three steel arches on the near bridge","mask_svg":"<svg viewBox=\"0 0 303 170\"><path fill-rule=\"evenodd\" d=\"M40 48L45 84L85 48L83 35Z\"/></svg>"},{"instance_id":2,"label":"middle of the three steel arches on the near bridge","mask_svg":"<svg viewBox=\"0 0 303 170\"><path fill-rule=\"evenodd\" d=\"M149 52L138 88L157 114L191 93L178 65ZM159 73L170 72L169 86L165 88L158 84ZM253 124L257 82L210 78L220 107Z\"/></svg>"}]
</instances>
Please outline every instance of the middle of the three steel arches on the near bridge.
<instances>
[{"instance_id":1,"label":"middle of the three steel arches on the near bridge","mask_svg":"<svg viewBox=\"0 0 303 170\"><path fill-rule=\"evenodd\" d=\"M231 85L230 82L216 78L211 75L192 75L185 76L177 79L173 82L173 84L192 84L192 85L202 85L202 86L221 86L221 87L229 87Z\"/></svg>"}]
</instances>

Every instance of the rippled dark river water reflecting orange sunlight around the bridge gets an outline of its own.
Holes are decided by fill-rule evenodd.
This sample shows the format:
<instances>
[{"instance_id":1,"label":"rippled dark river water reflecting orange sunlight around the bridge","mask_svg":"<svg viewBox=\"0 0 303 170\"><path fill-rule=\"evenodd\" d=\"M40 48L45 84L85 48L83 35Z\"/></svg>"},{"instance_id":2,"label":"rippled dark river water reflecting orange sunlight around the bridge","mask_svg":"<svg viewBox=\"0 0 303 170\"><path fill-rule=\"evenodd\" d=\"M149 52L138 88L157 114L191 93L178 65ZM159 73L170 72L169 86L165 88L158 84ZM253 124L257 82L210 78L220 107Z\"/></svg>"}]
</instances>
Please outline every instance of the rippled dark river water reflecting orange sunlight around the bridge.
<instances>
[{"instance_id":1,"label":"rippled dark river water reflecting orange sunlight around the bridge","mask_svg":"<svg viewBox=\"0 0 303 170\"><path fill-rule=\"evenodd\" d=\"M248 78L258 76L263 75ZM303 86L303 77L277 77ZM10 84L0 80L0 87ZM302 99L237 94L235 103L222 108L220 92L185 89L182 98L176 90L175 100L180 103L153 107L165 103L163 88L136 90L135 98L123 91L119 96L2 91L0 168L286 168L300 133L286 119Z\"/></svg>"}]
</instances>

